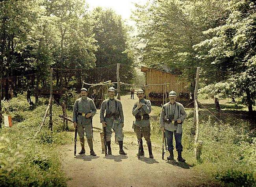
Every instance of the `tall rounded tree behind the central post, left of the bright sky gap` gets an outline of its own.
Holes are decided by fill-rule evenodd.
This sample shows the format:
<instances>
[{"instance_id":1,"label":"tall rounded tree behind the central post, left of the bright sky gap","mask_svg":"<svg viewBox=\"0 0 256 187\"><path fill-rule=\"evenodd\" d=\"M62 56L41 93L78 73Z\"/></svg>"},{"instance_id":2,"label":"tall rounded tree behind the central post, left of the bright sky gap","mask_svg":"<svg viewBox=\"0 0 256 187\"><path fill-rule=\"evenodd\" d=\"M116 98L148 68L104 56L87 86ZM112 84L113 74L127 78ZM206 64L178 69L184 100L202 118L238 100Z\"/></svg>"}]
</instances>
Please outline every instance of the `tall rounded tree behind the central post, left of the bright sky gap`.
<instances>
[{"instance_id":1,"label":"tall rounded tree behind the central post, left of the bright sky gap","mask_svg":"<svg viewBox=\"0 0 256 187\"><path fill-rule=\"evenodd\" d=\"M121 16L111 9L97 7L92 12L95 22L93 32L98 41L96 52L96 67L104 67L117 63L131 66L133 64L133 54L129 49L128 28L124 25ZM121 81L130 82L132 80L133 69L122 67ZM111 80L116 81L115 74Z\"/></svg>"}]
</instances>

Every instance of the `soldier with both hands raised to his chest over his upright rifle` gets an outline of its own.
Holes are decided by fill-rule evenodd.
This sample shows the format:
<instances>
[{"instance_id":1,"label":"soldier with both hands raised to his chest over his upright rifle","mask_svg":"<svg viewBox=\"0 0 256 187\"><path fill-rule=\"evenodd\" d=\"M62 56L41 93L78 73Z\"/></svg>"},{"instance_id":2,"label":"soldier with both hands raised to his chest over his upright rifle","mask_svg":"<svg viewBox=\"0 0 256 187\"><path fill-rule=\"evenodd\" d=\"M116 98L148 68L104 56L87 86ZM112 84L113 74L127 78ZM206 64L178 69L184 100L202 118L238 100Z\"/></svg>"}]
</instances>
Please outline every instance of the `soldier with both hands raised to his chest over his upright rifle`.
<instances>
[{"instance_id":1,"label":"soldier with both hands raised to his chest over his upright rifle","mask_svg":"<svg viewBox=\"0 0 256 187\"><path fill-rule=\"evenodd\" d=\"M140 141L140 155L144 155L142 137L145 138L148 145L148 153L150 158L154 158L152 154L152 146L150 141L150 121L149 113L151 112L151 102L144 98L144 91L142 89L137 91L138 102L135 102L132 109L132 115L135 116L134 132Z\"/></svg>"}]
</instances>

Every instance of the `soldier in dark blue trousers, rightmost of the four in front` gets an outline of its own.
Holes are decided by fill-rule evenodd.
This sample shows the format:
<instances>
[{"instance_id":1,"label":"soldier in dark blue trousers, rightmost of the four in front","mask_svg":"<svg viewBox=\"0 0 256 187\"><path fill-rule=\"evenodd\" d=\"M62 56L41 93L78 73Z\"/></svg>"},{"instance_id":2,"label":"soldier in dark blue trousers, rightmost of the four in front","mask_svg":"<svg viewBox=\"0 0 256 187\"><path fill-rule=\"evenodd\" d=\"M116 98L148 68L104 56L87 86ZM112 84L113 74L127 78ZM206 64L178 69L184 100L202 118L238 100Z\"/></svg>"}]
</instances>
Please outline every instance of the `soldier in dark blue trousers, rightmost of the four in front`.
<instances>
[{"instance_id":1,"label":"soldier in dark blue trousers, rightmost of the four in front","mask_svg":"<svg viewBox=\"0 0 256 187\"><path fill-rule=\"evenodd\" d=\"M176 143L176 151L178 152L178 161L185 162L186 160L182 158L182 123L185 120L187 114L182 104L176 102L177 94L174 91L169 93L169 100L167 102L160 114L160 127L165 133L168 145L168 151L170 156L167 157L168 160L173 160L173 135Z\"/></svg>"}]
</instances>

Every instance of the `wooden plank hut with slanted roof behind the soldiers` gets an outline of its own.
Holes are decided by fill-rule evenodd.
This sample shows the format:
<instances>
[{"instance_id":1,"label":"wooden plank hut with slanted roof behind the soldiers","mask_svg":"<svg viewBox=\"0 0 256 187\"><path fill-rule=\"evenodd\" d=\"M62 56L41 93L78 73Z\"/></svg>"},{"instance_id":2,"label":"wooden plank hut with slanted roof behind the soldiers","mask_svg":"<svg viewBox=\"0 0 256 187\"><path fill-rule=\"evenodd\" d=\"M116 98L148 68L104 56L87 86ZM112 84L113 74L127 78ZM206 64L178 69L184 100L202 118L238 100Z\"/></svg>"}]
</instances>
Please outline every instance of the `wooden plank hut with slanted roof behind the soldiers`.
<instances>
[{"instance_id":1,"label":"wooden plank hut with slanted roof behind the soldiers","mask_svg":"<svg viewBox=\"0 0 256 187\"><path fill-rule=\"evenodd\" d=\"M146 73L146 85L167 84L145 87L146 98L150 101L163 102L164 100L165 102L165 98L168 101L168 93L172 90L177 93L177 101L188 102L190 100L189 83L177 74L143 66L141 67L141 71Z\"/></svg>"}]
</instances>

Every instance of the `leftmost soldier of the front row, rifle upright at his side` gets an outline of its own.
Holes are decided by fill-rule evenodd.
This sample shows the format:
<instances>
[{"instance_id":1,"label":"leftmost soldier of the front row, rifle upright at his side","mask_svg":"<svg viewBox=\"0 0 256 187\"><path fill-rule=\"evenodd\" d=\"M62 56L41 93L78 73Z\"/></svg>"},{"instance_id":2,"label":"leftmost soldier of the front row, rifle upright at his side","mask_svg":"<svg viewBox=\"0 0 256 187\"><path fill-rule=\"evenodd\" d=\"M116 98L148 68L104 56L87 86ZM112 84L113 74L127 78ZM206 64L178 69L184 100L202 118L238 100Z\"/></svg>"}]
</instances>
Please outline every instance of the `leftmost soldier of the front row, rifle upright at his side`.
<instances>
[{"instance_id":1,"label":"leftmost soldier of the front row, rifle upright at his side","mask_svg":"<svg viewBox=\"0 0 256 187\"><path fill-rule=\"evenodd\" d=\"M84 148L84 133L87 138L87 143L90 148L90 155L96 156L93 151L93 139L92 139L92 118L96 114L96 107L92 99L87 97L87 89L81 89L81 98L75 101L73 109L73 123L74 128L77 126L77 132L80 137L80 144L82 150L79 154L85 154Z\"/></svg>"}]
</instances>

